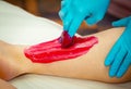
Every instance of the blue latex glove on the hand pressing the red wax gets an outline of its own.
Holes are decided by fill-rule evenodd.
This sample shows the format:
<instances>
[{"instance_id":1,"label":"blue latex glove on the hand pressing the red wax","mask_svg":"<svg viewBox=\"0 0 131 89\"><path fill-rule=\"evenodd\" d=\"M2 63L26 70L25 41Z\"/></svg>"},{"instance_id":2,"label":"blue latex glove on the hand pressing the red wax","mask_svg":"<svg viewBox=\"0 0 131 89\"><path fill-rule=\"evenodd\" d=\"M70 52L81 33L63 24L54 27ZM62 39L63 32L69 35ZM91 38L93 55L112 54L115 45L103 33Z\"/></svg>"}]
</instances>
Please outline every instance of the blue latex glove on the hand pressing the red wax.
<instances>
[{"instance_id":1,"label":"blue latex glove on the hand pressing the red wax","mask_svg":"<svg viewBox=\"0 0 131 89\"><path fill-rule=\"evenodd\" d=\"M88 25L99 22L109 5L110 0L62 0L59 15L63 29L72 37L85 20Z\"/></svg>"}]
</instances>

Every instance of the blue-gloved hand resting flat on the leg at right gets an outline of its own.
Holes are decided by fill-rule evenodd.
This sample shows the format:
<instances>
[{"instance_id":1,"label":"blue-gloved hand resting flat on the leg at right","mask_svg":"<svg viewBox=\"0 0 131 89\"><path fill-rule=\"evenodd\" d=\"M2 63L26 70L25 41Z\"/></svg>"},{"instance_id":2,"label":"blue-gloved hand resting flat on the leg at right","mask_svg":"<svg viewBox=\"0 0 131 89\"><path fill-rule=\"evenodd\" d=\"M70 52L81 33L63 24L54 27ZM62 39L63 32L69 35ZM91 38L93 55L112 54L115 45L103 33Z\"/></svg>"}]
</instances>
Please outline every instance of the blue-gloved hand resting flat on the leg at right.
<instances>
[{"instance_id":1,"label":"blue-gloved hand resting flat on the leg at right","mask_svg":"<svg viewBox=\"0 0 131 89\"><path fill-rule=\"evenodd\" d=\"M112 23L114 26L126 26L123 34L108 53L105 65L110 66L110 77L122 77L131 65L131 16Z\"/></svg>"}]
</instances>

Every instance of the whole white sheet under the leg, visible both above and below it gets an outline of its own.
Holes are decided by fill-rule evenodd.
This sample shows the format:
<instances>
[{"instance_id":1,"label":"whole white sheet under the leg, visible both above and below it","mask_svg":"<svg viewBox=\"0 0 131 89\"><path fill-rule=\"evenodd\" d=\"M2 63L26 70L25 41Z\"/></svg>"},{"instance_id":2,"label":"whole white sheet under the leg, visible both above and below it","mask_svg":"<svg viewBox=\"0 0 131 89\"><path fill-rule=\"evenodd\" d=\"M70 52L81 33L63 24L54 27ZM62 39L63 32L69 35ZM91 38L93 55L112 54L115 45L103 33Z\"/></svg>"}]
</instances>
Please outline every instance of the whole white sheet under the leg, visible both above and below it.
<instances>
[{"instance_id":1,"label":"whole white sheet under the leg, visible both above and below it","mask_svg":"<svg viewBox=\"0 0 131 89\"><path fill-rule=\"evenodd\" d=\"M7 42L34 44L58 37L60 29L60 25L49 20L36 17L0 0L0 39ZM33 74L20 76L10 82L19 89L131 89L131 82L104 84Z\"/></svg>"}]
</instances>

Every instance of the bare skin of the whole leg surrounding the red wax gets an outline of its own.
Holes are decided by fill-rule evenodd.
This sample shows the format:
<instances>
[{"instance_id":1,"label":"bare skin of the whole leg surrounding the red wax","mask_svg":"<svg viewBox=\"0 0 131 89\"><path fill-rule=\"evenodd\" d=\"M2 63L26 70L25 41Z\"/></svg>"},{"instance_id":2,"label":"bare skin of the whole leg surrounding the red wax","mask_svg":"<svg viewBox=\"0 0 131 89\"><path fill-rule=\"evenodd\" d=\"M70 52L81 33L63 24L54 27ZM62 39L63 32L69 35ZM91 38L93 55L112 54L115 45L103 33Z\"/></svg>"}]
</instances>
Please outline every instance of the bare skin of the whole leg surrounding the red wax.
<instances>
[{"instance_id":1,"label":"bare skin of the whole leg surrounding the red wax","mask_svg":"<svg viewBox=\"0 0 131 89\"><path fill-rule=\"evenodd\" d=\"M131 80L131 68L121 78L110 78L108 67L104 65L107 53L122 31L123 28L112 28L94 34L93 36L98 38L98 43L86 54L49 64L33 63L25 58L23 50L26 46L13 46L0 41L0 78L10 80L19 75L33 73L105 82L129 81Z\"/></svg>"}]
</instances>

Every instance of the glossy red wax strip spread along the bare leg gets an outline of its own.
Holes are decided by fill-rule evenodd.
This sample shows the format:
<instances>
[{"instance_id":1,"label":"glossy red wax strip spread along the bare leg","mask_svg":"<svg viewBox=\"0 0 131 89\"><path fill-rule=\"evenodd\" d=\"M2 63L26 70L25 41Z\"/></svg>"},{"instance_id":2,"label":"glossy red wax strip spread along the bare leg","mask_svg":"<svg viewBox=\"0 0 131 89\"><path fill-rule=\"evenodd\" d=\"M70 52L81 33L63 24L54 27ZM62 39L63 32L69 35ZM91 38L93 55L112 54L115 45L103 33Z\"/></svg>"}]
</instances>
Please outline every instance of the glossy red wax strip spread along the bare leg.
<instances>
[{"instance_id":1,"label":"glossy red wax strip spread along the bare leg","mask_svg":"<svg viewBox=\"0 0 131 89\"><path fill-rule=\"evenodd\" d=\"M24 54L35 63L51 63L78 58L87 53L87 51L98 42L94 36L81 38L73 37L73 44L69 48L62 48L61 37L48 42L31 46L24 50Z\"/></svg>"}]
</instances>

